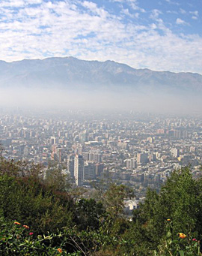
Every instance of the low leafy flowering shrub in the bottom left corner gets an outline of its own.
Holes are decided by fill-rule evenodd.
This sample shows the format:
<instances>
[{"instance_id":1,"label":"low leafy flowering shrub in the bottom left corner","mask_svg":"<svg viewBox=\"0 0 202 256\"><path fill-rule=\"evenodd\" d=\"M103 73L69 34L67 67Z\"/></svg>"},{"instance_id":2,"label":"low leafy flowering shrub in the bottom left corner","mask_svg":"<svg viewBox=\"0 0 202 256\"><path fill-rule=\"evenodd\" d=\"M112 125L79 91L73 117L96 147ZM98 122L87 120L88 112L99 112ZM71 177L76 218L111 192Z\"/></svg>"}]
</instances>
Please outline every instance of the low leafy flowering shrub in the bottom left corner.
<instances>
[{"instance_id":1,"label":"low leafy flowering shrub in the bottom left corner","mask_svg":"<svg viewBox=\"0 0 202 256\"><path fill-rule=\"evenodd\" d=\"M8 224L1 218L0 253L1 255L81 255L81 251L69 253L64 247L65 236L61 233L36 236L30 227L15 221ZM63 240L55 244L55 240Z\"/></svg>"}]
</instances>

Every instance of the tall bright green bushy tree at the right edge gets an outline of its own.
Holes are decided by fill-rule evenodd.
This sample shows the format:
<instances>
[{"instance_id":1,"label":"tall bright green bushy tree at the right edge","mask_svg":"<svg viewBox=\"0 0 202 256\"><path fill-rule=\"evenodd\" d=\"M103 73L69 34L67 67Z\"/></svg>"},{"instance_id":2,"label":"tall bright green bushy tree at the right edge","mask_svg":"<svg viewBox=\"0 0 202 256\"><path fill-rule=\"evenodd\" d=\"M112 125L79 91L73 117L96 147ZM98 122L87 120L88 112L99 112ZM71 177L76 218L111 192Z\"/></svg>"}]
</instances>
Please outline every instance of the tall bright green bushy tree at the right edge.
<instances>
[{"instance_id":1,"label":"tall bright green bushy tree at the right edge","mask_svg":"<svg viewBox=\"0 0 202 256\"><path fill-rule=\"evenodd\" d=\"M195 180L189 167L176 170L162 186L159 194L147 191L147 197L134 221L143 224L157 245L165 233L165 219L173 221L174 233L202 235L202 189L201 179Z\"/></svg>"}]
</instances>

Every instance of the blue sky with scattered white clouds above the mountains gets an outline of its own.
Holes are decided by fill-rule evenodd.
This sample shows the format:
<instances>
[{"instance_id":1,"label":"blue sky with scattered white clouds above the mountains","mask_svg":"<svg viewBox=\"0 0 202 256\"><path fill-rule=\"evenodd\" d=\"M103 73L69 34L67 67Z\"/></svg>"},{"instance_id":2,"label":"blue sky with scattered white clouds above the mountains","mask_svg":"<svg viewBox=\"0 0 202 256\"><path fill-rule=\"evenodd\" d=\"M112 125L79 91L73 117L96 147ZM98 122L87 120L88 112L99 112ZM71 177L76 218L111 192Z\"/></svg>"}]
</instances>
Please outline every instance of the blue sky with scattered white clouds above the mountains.
<instances>
[{"instance_id":1,"label":"blue sky with scattered white clouds above the mountains","mask_svg":"<svg viewBox=\"0 0 202 256\"><path fill-rule=\"evenodd\" d=\"M202 0L1 0L0 59L74 56L202 74Z\"/></svg>"}]
</instances>

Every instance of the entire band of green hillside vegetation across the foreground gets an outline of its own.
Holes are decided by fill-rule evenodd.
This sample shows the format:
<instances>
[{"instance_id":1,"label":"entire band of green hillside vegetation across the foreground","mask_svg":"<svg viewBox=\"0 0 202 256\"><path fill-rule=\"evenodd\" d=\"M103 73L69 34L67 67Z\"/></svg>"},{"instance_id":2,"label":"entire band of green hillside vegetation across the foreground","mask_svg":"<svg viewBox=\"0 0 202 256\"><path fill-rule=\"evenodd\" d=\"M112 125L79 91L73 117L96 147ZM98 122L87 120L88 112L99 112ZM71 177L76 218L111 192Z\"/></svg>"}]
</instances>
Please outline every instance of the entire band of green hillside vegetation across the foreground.
<instances>
[{"instance_id":1,"label":"entire band of green hillside vegetation across the foreground","mask_svg":"<svg viewBox=\"0 0 202 256\"><path fill-rule=\"evenodd\" d=\"M110 183L91 198L56 170L0 161L1 255L201 255L202 179L190 167L176 170L159 194L124 215L124 185ZM101 193L102 192L102 193Z\"/></svg>"}]
</instances>

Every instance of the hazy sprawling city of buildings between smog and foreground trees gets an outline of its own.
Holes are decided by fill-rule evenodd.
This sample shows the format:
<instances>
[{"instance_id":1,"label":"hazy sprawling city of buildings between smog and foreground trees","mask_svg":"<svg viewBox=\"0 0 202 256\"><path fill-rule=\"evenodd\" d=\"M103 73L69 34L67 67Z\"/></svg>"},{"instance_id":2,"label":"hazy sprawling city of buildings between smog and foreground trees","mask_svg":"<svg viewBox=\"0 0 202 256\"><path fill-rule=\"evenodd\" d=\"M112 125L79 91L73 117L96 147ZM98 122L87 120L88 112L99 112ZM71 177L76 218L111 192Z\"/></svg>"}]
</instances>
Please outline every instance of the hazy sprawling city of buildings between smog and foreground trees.
<instances>
[{"instance_id":1,"label":"hazy sprawling city of buildings between smog and foreground trees","mask_svg":"<svg viewBox=\"0 0 202 256\"><path fill-rule=\"evenodd\" d=\"M202 119L152 113L83 110L5 113L0 139L5 158L43 165L54 162L73 185L91 189L107 177L135 190L159 189L173 170L191 165L201 175Z\"/></svg>"}]
</instances>

